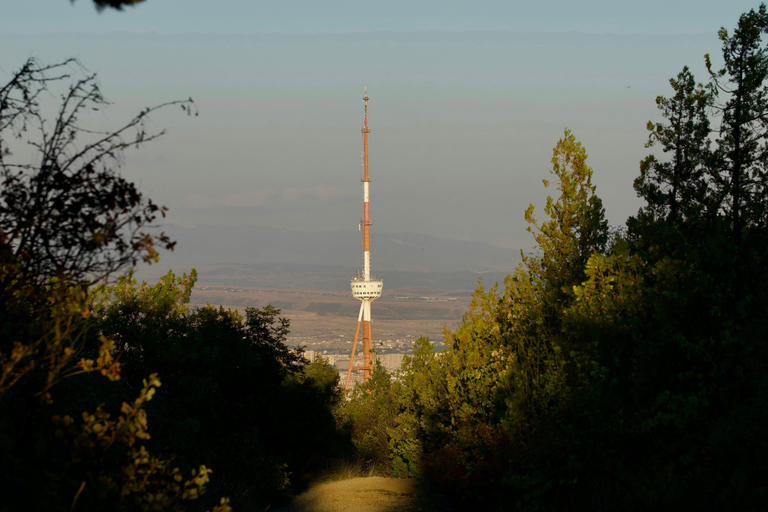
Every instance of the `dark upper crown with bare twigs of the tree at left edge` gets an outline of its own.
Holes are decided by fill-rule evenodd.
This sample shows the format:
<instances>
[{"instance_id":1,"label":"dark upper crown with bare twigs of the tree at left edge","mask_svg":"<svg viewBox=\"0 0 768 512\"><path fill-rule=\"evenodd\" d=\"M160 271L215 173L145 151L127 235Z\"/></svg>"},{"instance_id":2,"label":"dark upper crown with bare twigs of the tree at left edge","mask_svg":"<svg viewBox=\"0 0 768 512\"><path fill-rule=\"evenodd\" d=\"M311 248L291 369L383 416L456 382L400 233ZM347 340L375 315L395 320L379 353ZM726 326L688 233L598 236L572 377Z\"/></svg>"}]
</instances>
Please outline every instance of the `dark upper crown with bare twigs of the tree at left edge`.
<instances>
[{"instance_id":1,"label":"dark upper crown with bare twigs of the tree at left edge","mask_svg":"<svg viewBox=\"0 0 768 512\"><path fill-rule=\"evenodd\" d=\"M47 95L59 86L61 104L49 118ZM144 109L113 131L88 128L86 114L108 105L96 76L74 59L30 59L0 87L0 264L37 285L52 277L94 283L174 246L144 231L166 208L117 170L123 151L165 133L147 130L151 113L170 105L191 113L192 101ZM31 163L22 160L25 146L35 151ZM9 280L16 276L3 275L0 285Z\"/></svg>"}]
</instances>

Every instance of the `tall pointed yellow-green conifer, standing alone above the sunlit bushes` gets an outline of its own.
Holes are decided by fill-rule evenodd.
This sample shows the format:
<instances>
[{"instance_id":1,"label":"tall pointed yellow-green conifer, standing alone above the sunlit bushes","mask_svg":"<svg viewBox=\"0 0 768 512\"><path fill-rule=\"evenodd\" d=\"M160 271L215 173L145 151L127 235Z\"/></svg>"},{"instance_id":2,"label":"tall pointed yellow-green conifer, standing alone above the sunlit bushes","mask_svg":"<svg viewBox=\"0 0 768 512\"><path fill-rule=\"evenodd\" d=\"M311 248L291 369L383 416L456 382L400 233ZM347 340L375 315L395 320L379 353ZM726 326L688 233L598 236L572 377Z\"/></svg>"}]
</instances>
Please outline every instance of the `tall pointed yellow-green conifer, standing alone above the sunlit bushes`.
<instances>
[{"instance_id":1,"label":"tall pointed yellow-green conifer, standing alone above the sunlit bushes","mask_svg":"<svg viewBox=\"0 0 768 512\"><path fill-rule=\"evenodd\" d=\"M585 149L566 129L553 150L550 172L560 195L547 197L548 220L538 225L533 205L525 212L540 255L524 255L506 281L501 310L509 313L499 327L512 349L506 393L514 404L510 419L517 418L519 425L562 403L578 381L569 359L582 347L565 328L563 312L573 303L574 286L586 277L587 261L603 253L608 240L605 211L586 159Z\"/></svg>"}]
</instances>

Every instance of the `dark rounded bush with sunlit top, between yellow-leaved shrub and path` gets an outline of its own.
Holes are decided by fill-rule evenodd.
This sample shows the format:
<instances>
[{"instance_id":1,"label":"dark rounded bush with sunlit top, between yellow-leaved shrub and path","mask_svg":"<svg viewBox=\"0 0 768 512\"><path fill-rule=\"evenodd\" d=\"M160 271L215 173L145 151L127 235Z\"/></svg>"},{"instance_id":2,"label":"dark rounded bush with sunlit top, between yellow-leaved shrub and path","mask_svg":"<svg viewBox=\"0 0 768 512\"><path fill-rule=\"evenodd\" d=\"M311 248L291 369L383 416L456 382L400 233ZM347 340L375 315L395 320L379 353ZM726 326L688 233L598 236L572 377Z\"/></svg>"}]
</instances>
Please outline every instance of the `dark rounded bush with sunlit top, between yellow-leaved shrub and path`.
<instances>
[{"instance_id":1,"label":"dark rounded bush with sunlit top, between yellow-leaved shrub and path","mask_svg":"<svg viewBox=\"0 0 768 512\"><path fill-rule=\"evenodd\" d=\"M288 349L290 324L272 306L244 317L210 305L190 310L196 279L169 272L148 285L128 274L99 290L92 315L115 339L124 393L147 369L163 375L150 409L156 446L183 467L216 468L216 491L235 505L248 494L251 506L268 506L347 449L334 416L338 374Z\"/></svg>"}]
</instances>

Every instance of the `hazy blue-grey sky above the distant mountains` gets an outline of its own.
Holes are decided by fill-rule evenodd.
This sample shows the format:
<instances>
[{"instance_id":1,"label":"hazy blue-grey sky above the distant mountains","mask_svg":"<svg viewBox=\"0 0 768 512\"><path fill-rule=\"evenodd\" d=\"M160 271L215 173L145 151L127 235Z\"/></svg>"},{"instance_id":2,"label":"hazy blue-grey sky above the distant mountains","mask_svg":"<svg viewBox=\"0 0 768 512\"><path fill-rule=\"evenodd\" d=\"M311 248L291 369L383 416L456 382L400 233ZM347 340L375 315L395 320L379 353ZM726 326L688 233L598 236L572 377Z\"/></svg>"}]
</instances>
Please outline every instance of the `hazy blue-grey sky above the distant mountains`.
<instances>
[{"instance_id":1,"label":"hazy blue-grey sky above the distant mountains","mask_svg":"<svg viewBox=\"0 0 768 512\"><path fill-rule=\"evenodd\" d=\"M148 105L161 140L123 174L186 227L357 230L363 88L370 96L376 233L413 232L517 249L541 212L567 127L589 155L612 225L641 206L655 98L684 65L706 80L717 30L743 1L326 2L29 0L0 16L0 80L36 57L77 57L118 127ZM184 250L184 241L179 241ZM213 263L213 262L212 262Z\"/></svg>"}]
</instances>

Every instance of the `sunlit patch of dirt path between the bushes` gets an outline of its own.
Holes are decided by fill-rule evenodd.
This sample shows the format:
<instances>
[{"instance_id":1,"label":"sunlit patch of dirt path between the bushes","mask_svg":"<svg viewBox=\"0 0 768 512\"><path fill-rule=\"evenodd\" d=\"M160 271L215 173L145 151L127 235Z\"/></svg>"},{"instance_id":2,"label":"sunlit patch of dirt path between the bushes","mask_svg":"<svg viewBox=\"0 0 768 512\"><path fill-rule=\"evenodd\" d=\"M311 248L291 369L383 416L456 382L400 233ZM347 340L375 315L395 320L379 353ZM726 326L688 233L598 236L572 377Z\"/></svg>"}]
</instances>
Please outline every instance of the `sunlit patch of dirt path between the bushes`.
<instances>
[{"instance_id":1,"label":"sunlit patch of dirt path between the bushes","mask_svg":"<svg viewBox=\"0 0 768 512\"><path fill-rule=\"evenodd\" d=\"M317 484L297 496L286 512L418 512L413 480L352 478Z\"/></svg>"}]
</instances>

